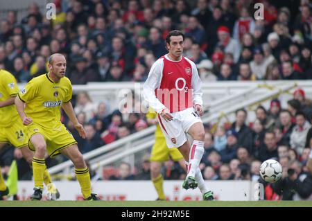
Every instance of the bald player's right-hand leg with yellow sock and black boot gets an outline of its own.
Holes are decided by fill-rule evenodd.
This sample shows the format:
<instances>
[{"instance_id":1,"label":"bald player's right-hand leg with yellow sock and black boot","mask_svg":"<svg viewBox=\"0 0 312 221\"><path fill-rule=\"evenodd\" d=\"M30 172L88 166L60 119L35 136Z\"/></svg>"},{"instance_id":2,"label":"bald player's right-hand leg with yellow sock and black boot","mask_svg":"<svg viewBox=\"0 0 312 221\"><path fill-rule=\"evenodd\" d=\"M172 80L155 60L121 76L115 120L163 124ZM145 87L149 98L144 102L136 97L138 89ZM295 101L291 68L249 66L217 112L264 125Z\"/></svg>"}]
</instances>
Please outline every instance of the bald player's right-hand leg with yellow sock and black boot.
<instances>
[{"instance_id":1,"label":"bald player's right-hand leg with yellow sock and black boot","mask_svg":"<svg viewBox=\"0 0 312 221\"><path fill-rule=\"evenodd\" d=\"M98 200L95 194L91 193L91 179L89 169L83 159L83 154L78 150L76 144L60 150L62 154L71 159L75 166L75 174L80 184L81 193L85 200Z\"/></svg>"}]
</instances>

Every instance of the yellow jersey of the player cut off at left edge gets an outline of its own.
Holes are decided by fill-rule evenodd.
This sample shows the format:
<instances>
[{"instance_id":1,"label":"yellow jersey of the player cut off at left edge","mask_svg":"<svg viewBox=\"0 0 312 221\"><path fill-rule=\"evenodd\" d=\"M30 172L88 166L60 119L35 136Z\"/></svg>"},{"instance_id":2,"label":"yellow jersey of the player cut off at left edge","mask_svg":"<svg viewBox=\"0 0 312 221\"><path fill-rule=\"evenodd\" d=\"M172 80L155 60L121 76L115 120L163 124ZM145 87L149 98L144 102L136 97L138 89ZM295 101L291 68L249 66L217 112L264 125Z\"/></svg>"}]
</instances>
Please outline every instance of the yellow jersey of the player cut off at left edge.
<instances>
[{"instance_id":1,"label":"yellow jersey of the player cut off at left edge","mask_svg":"<svg viewBox=\"0 0 312 221\"><path fill-rule=\"evenodd\" d=\"M0 101L8 100L12 96L19 94L17 81L12 73L0 69ZM19 117L14 104L6 107L0 107L0 125L1 127L10 127Z\"/></svg>"}]
</instances>

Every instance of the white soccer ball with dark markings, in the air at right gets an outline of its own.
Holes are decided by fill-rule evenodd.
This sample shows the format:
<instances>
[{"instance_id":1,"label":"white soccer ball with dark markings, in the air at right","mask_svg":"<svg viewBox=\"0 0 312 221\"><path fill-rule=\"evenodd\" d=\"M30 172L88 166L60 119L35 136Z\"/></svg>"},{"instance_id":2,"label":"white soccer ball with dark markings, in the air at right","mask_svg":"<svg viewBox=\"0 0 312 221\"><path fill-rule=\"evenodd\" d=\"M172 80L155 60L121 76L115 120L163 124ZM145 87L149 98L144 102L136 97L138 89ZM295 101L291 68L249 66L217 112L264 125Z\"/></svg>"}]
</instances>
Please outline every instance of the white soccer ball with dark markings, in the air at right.
<instances>
[{"instance_id":1,"label":"white soccer ball with dark markings, in the air at right","mask_svg":"<svg viewBox=\"0 0 312 221\"><path fill-rule=\"evenodd\" d=\"M260 175L262 179L269 183L275 183L281 179L281 164L274 159L267 159L260 166Z\"/></svg>"}]
</instances>

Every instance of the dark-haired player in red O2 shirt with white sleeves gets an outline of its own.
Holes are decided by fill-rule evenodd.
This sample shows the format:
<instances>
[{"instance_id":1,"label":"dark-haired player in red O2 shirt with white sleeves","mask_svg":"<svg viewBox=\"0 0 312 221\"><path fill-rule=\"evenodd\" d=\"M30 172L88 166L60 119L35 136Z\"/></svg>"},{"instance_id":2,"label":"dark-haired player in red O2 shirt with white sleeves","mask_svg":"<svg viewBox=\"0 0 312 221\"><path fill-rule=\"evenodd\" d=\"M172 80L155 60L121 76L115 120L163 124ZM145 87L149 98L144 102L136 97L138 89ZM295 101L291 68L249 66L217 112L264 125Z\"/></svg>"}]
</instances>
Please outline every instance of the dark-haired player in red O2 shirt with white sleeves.
<instances>
[{"instance_id":1,"label":"dark-haired player in red O2 shirt with white sleeves","mask_svg":"<svg viewBox=\"0 0 312 221\"><path fill-rule=\"evenodd\" d=\"M182 56L184 34L172 30L166 36L168 53L150 69L144 83L144 98L158 113L159 124L168 148L177 147L187 164L182 187L200 188L203 200L214 200L198 165L204 154L205 130L202 110L201 81L196 64ZM190 145L187 134L193 138Z\"/></svg>"}]
</instances>

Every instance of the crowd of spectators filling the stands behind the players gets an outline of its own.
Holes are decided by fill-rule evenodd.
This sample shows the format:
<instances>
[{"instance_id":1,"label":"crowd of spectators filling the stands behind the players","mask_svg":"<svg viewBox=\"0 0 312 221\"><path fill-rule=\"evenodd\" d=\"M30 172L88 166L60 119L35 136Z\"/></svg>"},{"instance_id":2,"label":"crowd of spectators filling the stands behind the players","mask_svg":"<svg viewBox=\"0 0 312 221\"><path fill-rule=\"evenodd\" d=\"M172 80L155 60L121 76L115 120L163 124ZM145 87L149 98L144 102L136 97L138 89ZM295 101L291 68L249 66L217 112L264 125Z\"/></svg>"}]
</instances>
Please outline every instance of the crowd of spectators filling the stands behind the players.
<instances>
[{"instance_id":1,"label":"crowd of spectators filling the stands behind the players","mask_svg":"<svg viewBox=\"0 0 312 221\"><path fill-rule=\"evenodd\" d=\"M73 85L144 82L155 60L166 53L164 37L179 29L186 35L184 55L197 64L202 82L312 79L311 1L261 2L262 20L254 19L255 2L250 0L55 0L53 20L32 3L21 21L15 11L1 20L0 69L10 71L18 82L28 82L47 72L49 55L62 53ZM78 136L67 118L62 121L83 153L148 127L145 114L110 109L109 103L96 103L85 92L73 103L87 139ZM258 180L261 162L273 157L283 166L284 177L293 169L312 182L306 168L312 148L312 102L297 89L287 104L281 107L273 99L270 109L257 107L252 123L245 122L248 112L239 109L231 124L218 125L216 131L206 125L200 164L204 178ZM7 166L3 172L8 172L14 157L20 159L19 178L31 179L31 170L24 173L28 166L18 150L1 153ZM150 179L148 163L144 158L135 174L128 163L121 163L117 173L106 178ZM185 176L173 161L165 163L163 174L165 179ZM270 190L268 199L279 197L273 194L278 193L276 186L268 186L266 193Z\"/></svg>"}]
</instances>

